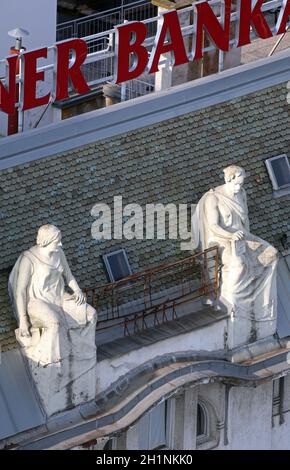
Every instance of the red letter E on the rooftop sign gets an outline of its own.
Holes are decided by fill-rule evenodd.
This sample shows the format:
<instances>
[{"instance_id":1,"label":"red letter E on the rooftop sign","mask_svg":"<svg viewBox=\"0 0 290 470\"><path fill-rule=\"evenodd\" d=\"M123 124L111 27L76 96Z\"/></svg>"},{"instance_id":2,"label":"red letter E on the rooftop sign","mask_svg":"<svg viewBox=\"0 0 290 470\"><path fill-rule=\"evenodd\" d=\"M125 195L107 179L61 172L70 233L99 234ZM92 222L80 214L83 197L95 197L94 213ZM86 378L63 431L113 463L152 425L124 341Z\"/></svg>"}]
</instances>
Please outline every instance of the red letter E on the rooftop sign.
<instances>
[{"instance_id":1,"label":"red letter E on the rooftop sign","mask_svg":"<svg viewBox=\"0 0 290 470\"><path fill-rule=\"evenodd\" d=\"M50 93L41 98L36 98L36 84L38 81L44 81L44 72L37 72L37 59L47 57L47 48L38 49L37 51L26 52L24 54L24 98L23 111L27 109L37 108L47 104Z\"/></svg>"}]
</instances>

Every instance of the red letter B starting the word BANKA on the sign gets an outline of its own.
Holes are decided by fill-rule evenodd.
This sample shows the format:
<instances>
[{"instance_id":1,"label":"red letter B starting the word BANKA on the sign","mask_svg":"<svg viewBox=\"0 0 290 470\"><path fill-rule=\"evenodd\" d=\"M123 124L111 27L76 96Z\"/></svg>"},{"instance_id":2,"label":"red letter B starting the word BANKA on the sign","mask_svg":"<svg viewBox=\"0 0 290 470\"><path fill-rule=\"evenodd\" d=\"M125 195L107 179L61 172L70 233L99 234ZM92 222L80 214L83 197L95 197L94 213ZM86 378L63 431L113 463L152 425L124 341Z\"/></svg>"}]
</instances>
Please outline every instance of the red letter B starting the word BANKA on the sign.
<instances>
[{"instance_id":1,"label":"red letter B starting the word BANKA on the sign","mask_svg":"<svg viewBox=\"0 0 290 470\"><path fill-rule=\"evenodd\" d=\"M146 35L146 25L138 21L117 27L118 70L116 83L133 80L144 72L148 62L148 52L142 43L145 41ZM133 42L131 36L134 38ZM133 65L130 60L131 54L135 55Z\"/></svg>"}]
</instances>

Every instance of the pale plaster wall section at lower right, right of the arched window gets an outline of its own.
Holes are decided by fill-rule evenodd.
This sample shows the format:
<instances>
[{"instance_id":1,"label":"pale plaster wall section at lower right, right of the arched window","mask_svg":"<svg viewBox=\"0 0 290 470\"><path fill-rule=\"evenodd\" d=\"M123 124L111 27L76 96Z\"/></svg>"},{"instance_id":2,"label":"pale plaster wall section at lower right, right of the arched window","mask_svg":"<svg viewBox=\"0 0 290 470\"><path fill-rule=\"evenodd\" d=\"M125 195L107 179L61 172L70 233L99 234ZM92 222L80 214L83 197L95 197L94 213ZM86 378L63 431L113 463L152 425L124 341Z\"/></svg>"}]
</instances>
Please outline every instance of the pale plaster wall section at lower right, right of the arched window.
<instances>
[{"instance_id":1,"label":"pale plaster wall section at lower right, right of the arched window","mask_svg":"<svg viewBox=\"0 0 290 470\"><path fill-rule=\"evenodd\" d=\"M270 450L272 382L257 388L233 387L229 393L228 439L219 449Z\"/></svg>"}]
</instances>

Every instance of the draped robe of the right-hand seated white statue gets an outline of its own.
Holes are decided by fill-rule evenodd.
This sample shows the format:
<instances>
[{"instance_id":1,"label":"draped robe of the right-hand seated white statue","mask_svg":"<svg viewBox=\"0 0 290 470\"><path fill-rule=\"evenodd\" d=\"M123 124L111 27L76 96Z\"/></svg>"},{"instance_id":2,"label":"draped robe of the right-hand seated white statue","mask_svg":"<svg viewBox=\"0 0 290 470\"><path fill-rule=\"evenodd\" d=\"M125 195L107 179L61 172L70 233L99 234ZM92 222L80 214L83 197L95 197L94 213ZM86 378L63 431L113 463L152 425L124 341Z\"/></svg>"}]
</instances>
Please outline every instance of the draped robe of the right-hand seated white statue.
<instances>
[{"instance_id":1,"label":"draped robe of the right-hand seated white statue","mask_svg":"<svg viewBox=\"0 0 290 470\"><path fill-rule=\"evenodd\" d=\"M218 225L229 232L242 230L242 240L231 241L214 233L210 220L217 207ZM233 315L246 315L255 321L276 318L277 251L249 231L244 189L230 198L220 186L208 191L199 201L192 217L194 248L219 246L221 258L221 301Z\"/></svg>"}]
</instances>

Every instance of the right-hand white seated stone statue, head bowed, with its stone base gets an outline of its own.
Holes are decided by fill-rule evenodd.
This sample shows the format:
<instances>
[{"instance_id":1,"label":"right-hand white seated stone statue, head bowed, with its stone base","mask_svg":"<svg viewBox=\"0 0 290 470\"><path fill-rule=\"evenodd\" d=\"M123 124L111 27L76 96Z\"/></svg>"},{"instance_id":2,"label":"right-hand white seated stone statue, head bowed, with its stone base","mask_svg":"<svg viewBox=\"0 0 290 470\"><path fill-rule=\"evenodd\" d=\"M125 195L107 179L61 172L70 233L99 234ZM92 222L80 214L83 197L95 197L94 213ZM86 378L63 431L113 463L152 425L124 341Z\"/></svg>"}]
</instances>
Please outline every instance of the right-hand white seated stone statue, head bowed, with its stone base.
<instances>
[{"instance_id":1,"label":"right-hand white seated stone statue, head bowed, with its stone base","mask_svg":"<svg viewBox=\"0 0 290 470\"><path fill-rule=\"evenodd\" d=\"M220 304L241 327L235 338L232 335L233 347L275 332L278 256L274 247L250 232L245 171L231 165L224 169L224 177L225 184L199 201L192 231L195 249L219 247Z\"/></svg>"}]
</instances>

